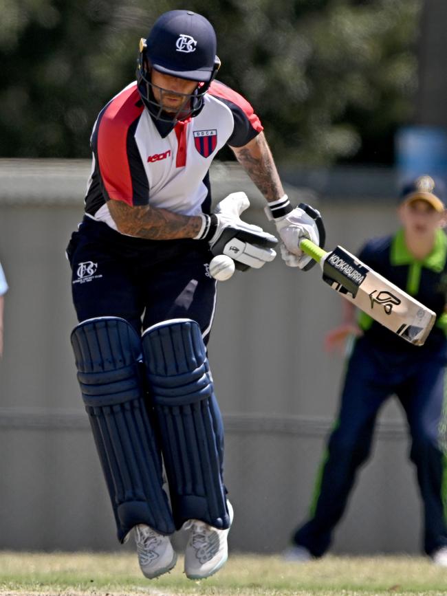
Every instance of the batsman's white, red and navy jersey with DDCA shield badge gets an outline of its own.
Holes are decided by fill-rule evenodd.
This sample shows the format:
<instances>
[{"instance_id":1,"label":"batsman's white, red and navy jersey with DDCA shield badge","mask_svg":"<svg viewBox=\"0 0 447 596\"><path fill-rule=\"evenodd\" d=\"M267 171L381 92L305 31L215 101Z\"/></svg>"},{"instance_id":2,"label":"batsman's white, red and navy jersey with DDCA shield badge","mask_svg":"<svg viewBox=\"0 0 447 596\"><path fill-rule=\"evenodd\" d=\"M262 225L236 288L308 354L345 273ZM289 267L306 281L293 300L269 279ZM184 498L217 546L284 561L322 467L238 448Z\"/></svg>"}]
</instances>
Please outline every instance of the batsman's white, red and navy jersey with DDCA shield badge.
<instances>
[{"instance_id":1,"label":"batsman's white, red and navy jersey with DDCA shield badge","mask_svg":"<svg viewBox=\"0 0 447 596\"><path fill-rule=\"evenodd\" d=\"M185 215L209 212L208 170L217 151L225 144L247 144L263 127L239 93L213 81L195 118L177 122L165 136L159 129L136 82L102 109L91 135L93 164L85 197L90 217L116 229L109 199Z\"/></svg>"}]
</instances>

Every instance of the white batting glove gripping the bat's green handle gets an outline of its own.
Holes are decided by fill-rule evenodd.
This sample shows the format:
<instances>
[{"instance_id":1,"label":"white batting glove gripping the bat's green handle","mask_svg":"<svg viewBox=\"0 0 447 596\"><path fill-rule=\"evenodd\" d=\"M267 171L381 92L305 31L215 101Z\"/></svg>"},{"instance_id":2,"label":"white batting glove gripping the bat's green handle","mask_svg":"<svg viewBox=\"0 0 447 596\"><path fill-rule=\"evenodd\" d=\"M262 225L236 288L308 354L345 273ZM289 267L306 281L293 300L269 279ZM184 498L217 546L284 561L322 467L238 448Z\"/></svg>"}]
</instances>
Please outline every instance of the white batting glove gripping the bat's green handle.
<instances>
[{"instance_id":1,"label":"white batting glove gripping the bat's green handle","mask_svg":"<svg viewBox=\"0 0 447 596\"><path fill-rule=\"evenodd\" d=\"M264 209L267 218L274 221L281 236L281 257L289 267L299 267L309 271L316 261L304 254L300 248L301 240L308 238L324 247L326 240L325 226L320 212L313 207L300 203L293 208L287 195L279 201L268 203Z\"/></svg>"}]
</instances>

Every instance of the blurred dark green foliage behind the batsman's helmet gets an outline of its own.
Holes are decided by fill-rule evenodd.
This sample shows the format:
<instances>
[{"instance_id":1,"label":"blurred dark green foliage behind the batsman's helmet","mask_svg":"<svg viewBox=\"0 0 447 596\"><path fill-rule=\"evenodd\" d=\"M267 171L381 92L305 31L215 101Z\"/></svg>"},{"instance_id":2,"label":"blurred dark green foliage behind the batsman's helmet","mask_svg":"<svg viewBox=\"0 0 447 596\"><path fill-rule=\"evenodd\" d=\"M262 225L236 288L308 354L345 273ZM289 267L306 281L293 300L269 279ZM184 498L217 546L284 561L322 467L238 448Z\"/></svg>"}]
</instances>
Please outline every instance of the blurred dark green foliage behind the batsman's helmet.
<instances>
[{"instance_id":1,"label":"blurred dark green foliage behind the batsman's helmet","mask_svg":"<svg viewBox=\"0 0 447 596\"><path fill-rule=\"evenodd\" d=\"M254 105L277 159L384 162L411 118L421 1L1 0L0 155L88 156L139 38L188 8L215 25L219 79Z\"/></svg>"}]
</instances>

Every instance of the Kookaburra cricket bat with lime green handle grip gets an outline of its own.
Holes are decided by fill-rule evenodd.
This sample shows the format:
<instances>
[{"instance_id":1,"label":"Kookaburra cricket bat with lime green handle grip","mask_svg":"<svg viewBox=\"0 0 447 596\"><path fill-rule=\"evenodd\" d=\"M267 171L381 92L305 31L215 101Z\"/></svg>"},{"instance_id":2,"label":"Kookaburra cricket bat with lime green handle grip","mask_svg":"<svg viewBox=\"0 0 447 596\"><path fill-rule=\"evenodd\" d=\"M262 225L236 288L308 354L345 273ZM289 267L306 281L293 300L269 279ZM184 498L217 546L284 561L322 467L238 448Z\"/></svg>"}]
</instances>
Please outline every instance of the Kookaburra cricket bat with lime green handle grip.
<instances>
[{"instance_id":1,"label":"Kookaburra cricket bat with lime green handle grip","mask_svg":"<svg viewBox=\"0 0 447 596\"><path fill-rule=\"evenodd\" d=\"M323 280L338 294L407 342L424 344L435 323L433 311L341 246L326 252L305 239L300 247L320 263Z\"/></svg>"}]
</instances>

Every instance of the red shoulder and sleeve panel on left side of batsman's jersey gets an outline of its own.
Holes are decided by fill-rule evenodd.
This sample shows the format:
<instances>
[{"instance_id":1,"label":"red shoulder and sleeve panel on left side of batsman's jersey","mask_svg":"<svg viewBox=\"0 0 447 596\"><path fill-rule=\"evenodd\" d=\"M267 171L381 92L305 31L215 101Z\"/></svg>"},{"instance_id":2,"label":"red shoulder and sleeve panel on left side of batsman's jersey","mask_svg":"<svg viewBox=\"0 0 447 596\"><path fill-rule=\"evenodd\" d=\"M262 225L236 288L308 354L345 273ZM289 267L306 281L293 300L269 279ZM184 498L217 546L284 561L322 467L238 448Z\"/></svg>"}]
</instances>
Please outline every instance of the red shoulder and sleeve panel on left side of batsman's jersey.
<instances>
[{"instance_id":1,"label":"red shoulder and sleeve panel on left side of batsman's jersey","mask_svg":"<svg viewBox=\"0 0 447 596\"><path fill-rule=\"evenodd\" d=\"M132 205L131 164L127 155L129 126L144 109L135 85L111 100L98 128L98 164L105 190L111 199Z\"/></svg>"}]
</instances>

